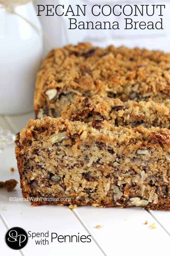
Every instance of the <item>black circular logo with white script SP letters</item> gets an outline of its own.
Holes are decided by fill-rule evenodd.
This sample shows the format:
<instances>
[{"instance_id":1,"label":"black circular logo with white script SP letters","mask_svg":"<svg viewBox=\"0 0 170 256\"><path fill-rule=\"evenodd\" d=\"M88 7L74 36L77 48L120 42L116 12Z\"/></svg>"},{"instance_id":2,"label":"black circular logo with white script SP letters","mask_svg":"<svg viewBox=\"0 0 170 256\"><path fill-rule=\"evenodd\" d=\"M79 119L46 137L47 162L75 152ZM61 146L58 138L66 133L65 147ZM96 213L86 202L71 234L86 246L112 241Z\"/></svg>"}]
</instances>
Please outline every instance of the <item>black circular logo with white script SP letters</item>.
<instances>
[{"instance_id":1,"label":"black circular logo with white script SP letters","mask_svg":"<svg viewBox=\"0 0 170 256\"><path fill-rule=\"evenodd\" d=\"M5 234L5 243L13 250L22 249L28 243L28 234L23 228L10 228Z\"/></svg>"}]
</instances>

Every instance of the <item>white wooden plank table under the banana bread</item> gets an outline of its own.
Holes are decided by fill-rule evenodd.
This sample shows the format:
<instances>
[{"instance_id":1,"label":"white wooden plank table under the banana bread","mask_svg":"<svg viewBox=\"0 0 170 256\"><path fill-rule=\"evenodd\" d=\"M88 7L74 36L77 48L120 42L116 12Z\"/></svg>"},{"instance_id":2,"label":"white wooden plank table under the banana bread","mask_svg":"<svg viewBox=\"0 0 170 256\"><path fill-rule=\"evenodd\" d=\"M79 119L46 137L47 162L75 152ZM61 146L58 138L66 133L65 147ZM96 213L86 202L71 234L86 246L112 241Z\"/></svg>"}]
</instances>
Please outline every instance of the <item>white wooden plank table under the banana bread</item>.
<instances>
[{"instance_id":1,"label":"white wooden plank table under the banana bread","mask_svg":"<svg viewBox=\"0 0 170 256\"><path fill-rule=\"evenodd\" d=\"M17 133L34 113L22 116L0 116L0 126ZM0 180L19 182L14 144L0 153ZM10 168L15 171L11 172ZM67 206L31 206L29 202L9 201L9 197L22 198L20 184L15 190L0 190L0 252L1 255L169 255L170 212L146 211L140 208L98 208ZM145 221L148 224L145 225ZM155 229L149 226L155 223ZM101 228L95 228L100 225ZM9 249L4 235L10 227L19 226L27 232L55 232L58 235L91 235L90 243L59 243L36 245L29 239L19 251Z\"/></svg>"}]
</instances>

